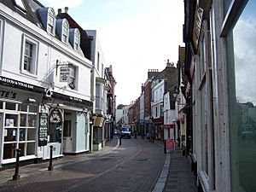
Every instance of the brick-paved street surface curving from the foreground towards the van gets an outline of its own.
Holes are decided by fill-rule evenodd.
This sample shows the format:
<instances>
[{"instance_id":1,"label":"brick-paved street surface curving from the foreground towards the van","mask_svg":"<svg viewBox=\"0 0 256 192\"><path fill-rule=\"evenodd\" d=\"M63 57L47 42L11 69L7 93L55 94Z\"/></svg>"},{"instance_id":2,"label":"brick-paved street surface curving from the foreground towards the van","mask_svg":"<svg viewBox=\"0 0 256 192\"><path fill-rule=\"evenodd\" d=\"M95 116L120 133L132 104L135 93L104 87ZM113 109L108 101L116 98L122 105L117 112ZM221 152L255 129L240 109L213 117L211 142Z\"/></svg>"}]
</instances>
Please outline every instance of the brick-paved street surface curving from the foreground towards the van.
<instances>
[{"instance_id":1,"label":"brick-paved street surface curving from the foreground towards the van","mask_svg":"<svg viewBox=\"0 0 256 192\"><path fill-rule=\"evenodd\" d=\"M118 148L114 144L98 154L66 155L62 162L54 161L51 172L43 164L23 167L32 172L0 184L0 191L151 191L165 160L161 146L139 138L122 139Z\"/></svg>"}]
</instances>

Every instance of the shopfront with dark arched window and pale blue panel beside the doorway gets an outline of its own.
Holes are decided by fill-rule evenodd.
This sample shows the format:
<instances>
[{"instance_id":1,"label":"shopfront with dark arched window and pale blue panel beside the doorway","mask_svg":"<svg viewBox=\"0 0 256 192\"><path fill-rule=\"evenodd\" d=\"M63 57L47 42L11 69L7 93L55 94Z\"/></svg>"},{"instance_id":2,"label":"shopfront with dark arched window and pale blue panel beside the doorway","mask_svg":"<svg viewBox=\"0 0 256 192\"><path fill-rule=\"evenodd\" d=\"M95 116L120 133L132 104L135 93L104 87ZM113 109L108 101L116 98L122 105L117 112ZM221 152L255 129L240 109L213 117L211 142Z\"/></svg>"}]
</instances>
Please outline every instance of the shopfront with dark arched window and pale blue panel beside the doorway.
<instances>
[{"instance_id":1,"label":"shopfront with dark arched window and pale blue panel beside the doorway","mask_svg":"<svg viewBox=\"0 0 256 192\"><path fill-rule=\"evenodd\" d=\"M88 151L91 103L58 93L53 93L53 98L49 101L48 143L43 159L49 158L50 145L54 147L54 157Z\"/></svg>"}]
</instances>

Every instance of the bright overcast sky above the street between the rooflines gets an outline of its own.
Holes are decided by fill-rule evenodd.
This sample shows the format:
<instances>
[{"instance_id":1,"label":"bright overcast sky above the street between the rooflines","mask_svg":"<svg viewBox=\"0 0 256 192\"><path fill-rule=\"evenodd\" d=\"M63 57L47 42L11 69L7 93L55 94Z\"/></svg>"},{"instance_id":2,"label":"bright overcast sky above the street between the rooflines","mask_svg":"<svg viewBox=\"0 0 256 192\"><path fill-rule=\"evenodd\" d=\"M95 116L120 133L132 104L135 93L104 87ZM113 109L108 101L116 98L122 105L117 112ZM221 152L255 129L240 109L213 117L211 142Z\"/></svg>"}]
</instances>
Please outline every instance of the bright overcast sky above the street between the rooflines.
<instances>
[{"instance_id":1,"label":"bright overcast sky above the street between the rooflines","mask_svg":"<svg viewBox=\"0 0 256 192\"><path fill-rule=\"evenodd\" d=\"M68 7L84 30L99 34L105 66L113 66L117 104L141 93L148 69L177 63L183 46L183 0L39 0L45 7Z\"/></svg>"}]
</instances>

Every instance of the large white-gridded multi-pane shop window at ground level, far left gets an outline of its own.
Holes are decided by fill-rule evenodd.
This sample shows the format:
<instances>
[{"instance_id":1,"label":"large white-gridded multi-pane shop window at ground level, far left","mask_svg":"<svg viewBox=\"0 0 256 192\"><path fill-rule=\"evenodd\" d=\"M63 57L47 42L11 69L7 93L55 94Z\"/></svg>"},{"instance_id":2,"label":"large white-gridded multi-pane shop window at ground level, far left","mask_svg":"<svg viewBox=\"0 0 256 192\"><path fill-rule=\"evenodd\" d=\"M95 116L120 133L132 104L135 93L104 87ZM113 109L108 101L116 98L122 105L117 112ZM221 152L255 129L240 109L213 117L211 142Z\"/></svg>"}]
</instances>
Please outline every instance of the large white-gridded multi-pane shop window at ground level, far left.
<instances>
[{"instance_id":1,"label":"large white-gridded multi-pane shop window at ground level, far left","mask_svg":"<svg viewBox=\"0 0 256 192\"><path fill-rule=\"evenodd\" d=\"M26 103L1 102L4 114L3 160L15 159L15 149L20 156L36 154L38 106ZM3 115L1 114L1 115Z\"/></svg>"}]
</instances>

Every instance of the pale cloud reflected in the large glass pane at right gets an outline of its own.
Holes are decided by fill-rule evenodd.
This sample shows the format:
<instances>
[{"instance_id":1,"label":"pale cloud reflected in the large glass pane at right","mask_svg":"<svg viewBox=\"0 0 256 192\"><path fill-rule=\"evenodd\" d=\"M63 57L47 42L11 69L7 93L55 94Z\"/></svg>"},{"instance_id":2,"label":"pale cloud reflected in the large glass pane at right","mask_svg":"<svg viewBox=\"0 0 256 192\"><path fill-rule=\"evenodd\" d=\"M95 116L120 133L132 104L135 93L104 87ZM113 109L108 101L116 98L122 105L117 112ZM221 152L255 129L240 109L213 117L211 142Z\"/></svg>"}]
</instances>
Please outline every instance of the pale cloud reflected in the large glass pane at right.
<instances>
[{"instance_id":1,"label":"pale cloud reflected in the large glass pane at right","mask_svg":"<svg viewBox=\"0 0 256 192\"><path fill-rule=\"evenodd\" d=\"M256 45L255 20L238 20L234 28L234 52L236 63L236 97L239 102L256 104Z\"/></svg>"}]
</instances>

